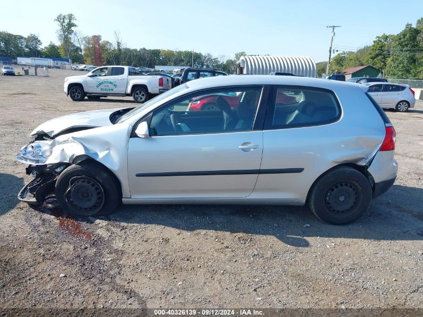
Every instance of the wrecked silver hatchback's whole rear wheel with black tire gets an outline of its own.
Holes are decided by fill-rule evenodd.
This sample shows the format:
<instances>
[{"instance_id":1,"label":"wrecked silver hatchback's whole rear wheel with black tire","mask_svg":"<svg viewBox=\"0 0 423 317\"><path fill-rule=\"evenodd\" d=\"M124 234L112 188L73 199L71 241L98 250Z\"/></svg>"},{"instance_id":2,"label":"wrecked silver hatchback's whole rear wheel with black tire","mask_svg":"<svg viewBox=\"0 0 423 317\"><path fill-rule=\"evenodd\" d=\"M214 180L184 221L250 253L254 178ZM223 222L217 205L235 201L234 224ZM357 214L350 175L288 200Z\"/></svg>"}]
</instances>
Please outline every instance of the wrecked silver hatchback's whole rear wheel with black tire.
<instances>
[{"instance_id":1,"label":"wrecked silver hatchback's whole rear wheel with black tire","mask_svg":"<svg viewBox=\"0 0 423 317\"><path fill-rule=\"evenodd\" d=\"M320 220L342 225L357 220L368 209L371 198L369 180L359 171L341 166L315 182L308 205Z\"/></svg>"}]
</instances>

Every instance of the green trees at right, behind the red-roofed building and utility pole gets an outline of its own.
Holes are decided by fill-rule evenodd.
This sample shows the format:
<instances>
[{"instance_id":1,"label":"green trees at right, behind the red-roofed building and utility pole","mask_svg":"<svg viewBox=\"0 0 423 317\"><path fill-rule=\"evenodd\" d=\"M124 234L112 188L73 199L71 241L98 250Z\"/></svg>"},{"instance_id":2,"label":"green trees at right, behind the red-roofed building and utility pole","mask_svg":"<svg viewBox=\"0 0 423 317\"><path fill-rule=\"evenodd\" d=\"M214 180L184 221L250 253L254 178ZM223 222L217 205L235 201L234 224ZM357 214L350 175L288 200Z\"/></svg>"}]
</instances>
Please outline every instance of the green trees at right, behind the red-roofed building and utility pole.
<instances>
[{"instance_id":1,"label":"green trees at right, behind the red-roofed building and utility pole","mask_svg":"<svg viewBox=\"0 0 423 317\"><path fill-rule=\"evenodd\" d=\"M415 27L406 24L398 34L382 34L373 44L356 52L339 50L329 65L329 73L350 67L370 65L385 78L423 79L423 18ZM327 62L316 64L318 76L326 72Z\"/></svg>"}]
</instances>

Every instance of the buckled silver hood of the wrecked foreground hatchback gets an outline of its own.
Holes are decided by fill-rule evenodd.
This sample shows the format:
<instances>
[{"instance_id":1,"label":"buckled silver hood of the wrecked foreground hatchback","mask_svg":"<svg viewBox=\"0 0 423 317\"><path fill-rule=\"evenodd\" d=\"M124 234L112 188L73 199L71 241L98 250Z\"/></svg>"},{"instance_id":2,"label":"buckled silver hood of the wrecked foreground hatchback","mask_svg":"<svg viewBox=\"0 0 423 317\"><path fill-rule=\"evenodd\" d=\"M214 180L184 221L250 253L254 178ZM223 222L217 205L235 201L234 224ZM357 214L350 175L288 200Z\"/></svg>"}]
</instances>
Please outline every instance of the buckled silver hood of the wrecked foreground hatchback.
<instances>
[{"instance_id":1,"label":"buckled silver hood of the wrecked foreground hatchback","mask_svg":"<svg viewBox=\"0 0 423 317\"><path fill-rule=\"evenodd\" d=\"M31 132L31 136L47 134L49 137L74 128L98 128L111 126L110 115L122 108L78 112L46 121Z\"/></svg>"}]
</instances>

